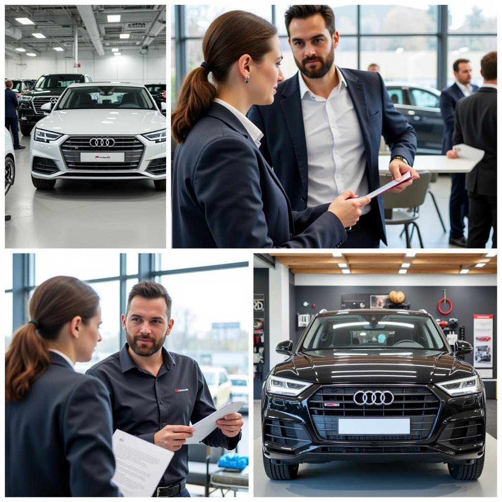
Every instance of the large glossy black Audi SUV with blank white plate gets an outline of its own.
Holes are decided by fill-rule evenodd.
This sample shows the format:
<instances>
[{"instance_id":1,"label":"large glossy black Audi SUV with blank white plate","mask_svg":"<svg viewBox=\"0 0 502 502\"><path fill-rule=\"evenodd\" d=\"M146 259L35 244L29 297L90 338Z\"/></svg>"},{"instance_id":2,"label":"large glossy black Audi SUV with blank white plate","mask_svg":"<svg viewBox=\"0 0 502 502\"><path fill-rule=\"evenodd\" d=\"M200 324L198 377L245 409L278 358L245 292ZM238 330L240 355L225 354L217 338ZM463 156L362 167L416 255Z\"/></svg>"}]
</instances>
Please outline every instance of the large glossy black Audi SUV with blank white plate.
<instances>
[{"instance_id":1,"label":"large glossy black Audi SUV with blank white plate","mask_svg":"<svg viewBox=\"0 0 502 502\"><path fill-rule=\"evenodd\" d=\"M321 311L277 352L262 394L263 462L272 479L331 460L448 464L477 479L486 401L476 370L425 311Z\"/></svg>"}]
</instances>

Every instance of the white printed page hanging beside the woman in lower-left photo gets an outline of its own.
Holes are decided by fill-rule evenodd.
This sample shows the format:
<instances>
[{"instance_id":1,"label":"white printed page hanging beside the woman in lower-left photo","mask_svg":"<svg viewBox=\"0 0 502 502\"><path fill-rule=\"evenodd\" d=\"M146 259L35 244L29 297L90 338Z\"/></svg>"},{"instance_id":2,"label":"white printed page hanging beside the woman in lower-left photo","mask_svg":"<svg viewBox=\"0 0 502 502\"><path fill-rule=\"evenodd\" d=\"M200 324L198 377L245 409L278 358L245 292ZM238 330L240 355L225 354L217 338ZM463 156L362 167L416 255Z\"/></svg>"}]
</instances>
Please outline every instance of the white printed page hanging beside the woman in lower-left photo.
<instances>
[{"instance_id":1,"label":"white printed page hanging beside the woman in lower-left photo","mask_svg":"<svg viewBox=\"0 0 502 502\"><path fill-rule=\"evenodd\" d=\"M126 497L151 497L174 452L117 429L111 438L115 474L111 480Z\"/></svg>"}]
</instances>

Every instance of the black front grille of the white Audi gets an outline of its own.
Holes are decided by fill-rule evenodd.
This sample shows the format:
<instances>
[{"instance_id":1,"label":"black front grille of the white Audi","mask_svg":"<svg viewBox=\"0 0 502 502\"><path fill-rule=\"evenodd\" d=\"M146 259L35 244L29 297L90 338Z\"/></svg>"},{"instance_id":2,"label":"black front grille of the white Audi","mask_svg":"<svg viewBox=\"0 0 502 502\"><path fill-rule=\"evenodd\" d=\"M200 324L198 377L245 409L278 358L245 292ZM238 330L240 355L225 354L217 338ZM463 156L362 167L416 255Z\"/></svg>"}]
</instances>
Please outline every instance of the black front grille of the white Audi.
<instances>
[{"instance_id":1,"label":"black front grille of the white Audi","mask_svg":"<svg viewBox=\"0 0 502 502\"><path fill-rule=\"evenodd\" d=\"M113 140L111 147L93 147L93 138ZM68 170L83 171L136 171L140 167L145 145L136 136L70 136L61 152ZM81 152L124 152L124 162L80 162Z\"/></svg>"}]
</instances>

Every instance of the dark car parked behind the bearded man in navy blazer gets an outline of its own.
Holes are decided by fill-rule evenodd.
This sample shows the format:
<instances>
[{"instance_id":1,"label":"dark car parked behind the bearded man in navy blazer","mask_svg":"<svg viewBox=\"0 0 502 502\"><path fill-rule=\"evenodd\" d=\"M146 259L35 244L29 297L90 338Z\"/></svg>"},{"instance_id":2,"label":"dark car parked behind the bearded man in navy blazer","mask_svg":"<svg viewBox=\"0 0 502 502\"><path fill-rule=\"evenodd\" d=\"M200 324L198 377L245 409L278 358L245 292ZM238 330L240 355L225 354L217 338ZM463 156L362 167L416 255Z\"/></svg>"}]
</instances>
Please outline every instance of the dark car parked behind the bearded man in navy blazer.
<instances>
[{"instance_id":1,"label":"dark car parked behind the bearded man in navy blazer","mask_svg":"<svg viewBox=\"0 0 502 502\"><path fill-rule=\"evenodd\" d=\"M386 82L396 109L417 133L417 153L441 154L444 122L439 108L441 91L406 82Z\"/></svg>"}]
</instances>

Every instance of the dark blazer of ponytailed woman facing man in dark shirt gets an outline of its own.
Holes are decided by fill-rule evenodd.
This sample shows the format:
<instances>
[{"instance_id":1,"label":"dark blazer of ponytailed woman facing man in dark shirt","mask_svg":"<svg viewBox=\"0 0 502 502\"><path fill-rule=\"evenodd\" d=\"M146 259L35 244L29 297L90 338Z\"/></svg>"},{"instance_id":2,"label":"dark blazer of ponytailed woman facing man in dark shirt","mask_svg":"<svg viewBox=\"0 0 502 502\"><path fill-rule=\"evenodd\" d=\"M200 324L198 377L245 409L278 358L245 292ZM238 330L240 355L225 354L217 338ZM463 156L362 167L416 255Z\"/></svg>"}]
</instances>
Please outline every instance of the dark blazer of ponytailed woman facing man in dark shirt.
<instances>
[{"instance_id":1,"label":"dark blazer of ponytailed woman facing man in dark shirt","mask_svg":"<svg viewBox=\"0 0 502 502\"><path fill-rule=\"evenodd\" d=\"M25 399L6 403L6 496L120 496L108 392L50 357Z\"/></svg>"}]
</instances>

